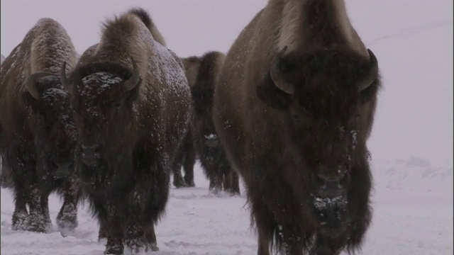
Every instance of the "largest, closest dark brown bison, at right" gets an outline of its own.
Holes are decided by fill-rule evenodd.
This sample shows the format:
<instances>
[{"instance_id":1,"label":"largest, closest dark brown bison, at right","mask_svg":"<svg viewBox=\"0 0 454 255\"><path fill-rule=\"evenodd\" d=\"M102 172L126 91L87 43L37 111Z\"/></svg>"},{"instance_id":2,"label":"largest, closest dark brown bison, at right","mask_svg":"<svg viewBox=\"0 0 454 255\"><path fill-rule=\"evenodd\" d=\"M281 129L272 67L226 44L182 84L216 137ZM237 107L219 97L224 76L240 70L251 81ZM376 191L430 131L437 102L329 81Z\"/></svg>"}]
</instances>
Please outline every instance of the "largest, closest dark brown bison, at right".
<instances>
[{"instance_id":1,"label":"largest, closest dark brown bison, at right","mask_svg":"<svg viewBox=\"0 0 454 255\"><path fill-rule=\"evenodd\" d=\"M229 50L214 123L248 189L258 254L360 249L378 64L341 0L271 0Z\"/></svg>"}]
</instances>

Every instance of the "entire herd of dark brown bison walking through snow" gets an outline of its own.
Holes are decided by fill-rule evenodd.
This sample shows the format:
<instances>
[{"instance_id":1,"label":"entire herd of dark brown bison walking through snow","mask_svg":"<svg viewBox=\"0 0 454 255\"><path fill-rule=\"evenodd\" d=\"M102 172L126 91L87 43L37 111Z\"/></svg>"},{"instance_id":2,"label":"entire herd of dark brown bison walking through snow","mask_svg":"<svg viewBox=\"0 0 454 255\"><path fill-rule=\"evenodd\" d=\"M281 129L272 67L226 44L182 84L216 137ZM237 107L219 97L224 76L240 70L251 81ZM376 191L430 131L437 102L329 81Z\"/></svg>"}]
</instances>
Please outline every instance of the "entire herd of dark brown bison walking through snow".
<instances>
[{"instance_id":1,"label":"entire herd of dark brown bison walking through snow","mask_svg":"<svg viewBox=\"0 0 454 255\"><path fill-rule=\"evenodd\" d=\"M341 0L270 0L226 54L178 57L147 11L101 26L78 55L42 18L1 63L1 185L12 229L77 227L87 200L105 254L157 251L170 175L240 194L258 254L355 252L370 225L370 153L378 62ZM184 169L184 176L182 175Z\"/></svg>"}]
</instances>

